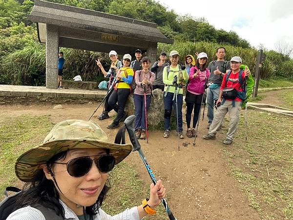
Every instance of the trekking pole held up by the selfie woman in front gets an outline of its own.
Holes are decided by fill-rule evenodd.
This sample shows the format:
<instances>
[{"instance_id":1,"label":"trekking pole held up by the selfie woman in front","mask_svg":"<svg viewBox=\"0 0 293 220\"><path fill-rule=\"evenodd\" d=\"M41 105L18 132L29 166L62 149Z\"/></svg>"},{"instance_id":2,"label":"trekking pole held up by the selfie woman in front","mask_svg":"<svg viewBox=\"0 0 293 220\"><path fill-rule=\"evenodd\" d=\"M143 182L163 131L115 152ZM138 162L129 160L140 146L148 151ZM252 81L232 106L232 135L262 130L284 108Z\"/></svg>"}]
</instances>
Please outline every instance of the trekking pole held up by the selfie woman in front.
<instances>
[{"instance_id":1,"label":"trekking pole held up by the selfie woman in front","mask_svg":"<svg viewBox=\"0 0 293 220\"><path fill-rule=\"evenodd\" d=\"M134 115L130 115L124 121L124 125L125 125L125 127L127 129L127 132L128 132L128 135L129 135L129 139L130 139L131 144L133 146L132 151L138 151L138 154L140 155L140 157L142 158L142 160L143 160L143 162L144 162L144 164L146 166L146 170L148 172L148 175L150 176L152 182L154 184L156 184L157 181L156 181L155 175L153 174L153 172L152 172L149 164L147 163L146 156L144 155L144 153L143 153L143 151L141 149L141 145L138 142L138 139L137 139L137 137L135 135L135 131L134 131L134 128L133 128L134 119L135 119L135 116ZM121 130L123 130L123 128ZM124 130L124 132L125 132L125 130ZM125 138L124 138L124 141L125 141ZM115 138L115 143L117 143L116 138ZM173 216L173 214L172 214L172 212L171 212L171 210L170 210L170 208L169 208L169 206L168 206L167 201L166 201L165 198L162 198L162 202L163 202L163 205L164 205L164 207L166 209L166 212L167 212L167 215L169 217L169 220L177 220Z\"/></svg>"}]
</instances>

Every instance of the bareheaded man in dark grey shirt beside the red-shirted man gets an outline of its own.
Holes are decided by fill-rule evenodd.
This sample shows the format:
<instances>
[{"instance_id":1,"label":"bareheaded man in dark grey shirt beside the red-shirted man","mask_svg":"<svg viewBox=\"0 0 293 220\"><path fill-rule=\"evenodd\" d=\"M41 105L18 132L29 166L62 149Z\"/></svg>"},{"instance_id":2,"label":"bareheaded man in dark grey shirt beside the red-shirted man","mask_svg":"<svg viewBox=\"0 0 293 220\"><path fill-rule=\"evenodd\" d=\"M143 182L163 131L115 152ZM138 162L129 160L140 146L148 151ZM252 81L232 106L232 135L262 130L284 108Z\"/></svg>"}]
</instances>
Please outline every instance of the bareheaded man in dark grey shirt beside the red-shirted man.
<instances>
[{"instance_id":1,"label":"bareheaded man in dark grey shirt beside the red-shirted man","mask_svg":"<svg viewBox=\"0 0 293 220\"><path fill-rule=\"evenodd\" d=\"M230 69L230 63L224 60L226 54L225 47L219 47L216 51L217 60L209 63L209 84L207 88L207 107L208 107L208 129L213 120L213 111L215 102L219 98L220 86L223 76ZM220 127L219 127L220 129Z\"/></svg>"}]
</instances>

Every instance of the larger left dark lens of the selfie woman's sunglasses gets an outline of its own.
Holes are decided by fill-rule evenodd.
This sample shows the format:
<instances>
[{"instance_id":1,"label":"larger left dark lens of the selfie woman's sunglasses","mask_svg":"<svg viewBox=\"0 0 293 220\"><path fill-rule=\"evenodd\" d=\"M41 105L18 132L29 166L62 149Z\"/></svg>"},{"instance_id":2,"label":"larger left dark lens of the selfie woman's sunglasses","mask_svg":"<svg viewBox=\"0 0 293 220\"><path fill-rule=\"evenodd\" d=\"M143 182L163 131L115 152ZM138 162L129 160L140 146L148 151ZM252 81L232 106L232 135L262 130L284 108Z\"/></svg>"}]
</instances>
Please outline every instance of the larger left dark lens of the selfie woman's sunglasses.
<instances>
[{"instance_id":1,"label":"larger left dark lens of the selfie woman's sunglasses","mask_svg":"<svg viewBox=\"0 0 293 220\"><path fill-rule=\"evenodd\" d=\"M88 157L73 159L67 164L67 172L71 176L84 176L91 168L92 160Z\"/></svg>"}]
</instances>

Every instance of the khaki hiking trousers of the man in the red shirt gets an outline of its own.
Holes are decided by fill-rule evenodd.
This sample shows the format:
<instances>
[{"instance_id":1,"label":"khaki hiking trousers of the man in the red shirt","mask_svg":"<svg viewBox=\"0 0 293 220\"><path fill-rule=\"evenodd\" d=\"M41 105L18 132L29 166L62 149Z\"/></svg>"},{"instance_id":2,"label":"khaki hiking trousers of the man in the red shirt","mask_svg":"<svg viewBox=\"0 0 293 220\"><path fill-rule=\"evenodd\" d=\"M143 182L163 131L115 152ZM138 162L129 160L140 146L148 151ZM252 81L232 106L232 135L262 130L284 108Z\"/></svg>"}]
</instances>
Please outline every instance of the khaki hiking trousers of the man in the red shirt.
<instances>
[{"instance_id":1,"label":"khaki hiking trousers of the man in the red shirt","mask_svg":"<svg viewBox=\"0 0 293 220\"><path fill-rule=\"evenodd\" d=\"M222 121L229 112L230 122L229 122L229 130L227 133L227 138L230 140L233 139L234 133L237 129L237 124L239 121L241 111L241 102L235 101L235 106L233 107L232 101L225 100L224 104L222 104L215 112L214 118L211 122L211 125L209 127L209 134L212 136L215 136L217 133L217 129L221 126Z\"/></svg>"}]
</instances>

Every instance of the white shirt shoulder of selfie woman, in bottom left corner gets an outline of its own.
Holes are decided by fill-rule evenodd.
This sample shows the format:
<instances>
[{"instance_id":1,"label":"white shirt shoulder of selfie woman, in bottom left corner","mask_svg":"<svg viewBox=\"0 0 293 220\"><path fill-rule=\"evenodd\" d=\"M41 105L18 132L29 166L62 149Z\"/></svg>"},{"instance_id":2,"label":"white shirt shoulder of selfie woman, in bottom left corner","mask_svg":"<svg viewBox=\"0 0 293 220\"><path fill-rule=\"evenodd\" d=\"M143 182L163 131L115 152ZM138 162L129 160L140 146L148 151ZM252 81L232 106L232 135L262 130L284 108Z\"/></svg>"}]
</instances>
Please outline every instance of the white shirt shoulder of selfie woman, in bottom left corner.
<instances>
[{"instance_id":1,"label":"white shirt shoulder of selfie woman, in bottom left corner","mask_svg":"<svg viewBox=\"0 0 293 220\"><path fill-rule=\"evenodd\" d=\"M11 213L6 220L45 220L45 217L40 210L26 206Z\"/></svg>"}]
</instances>

